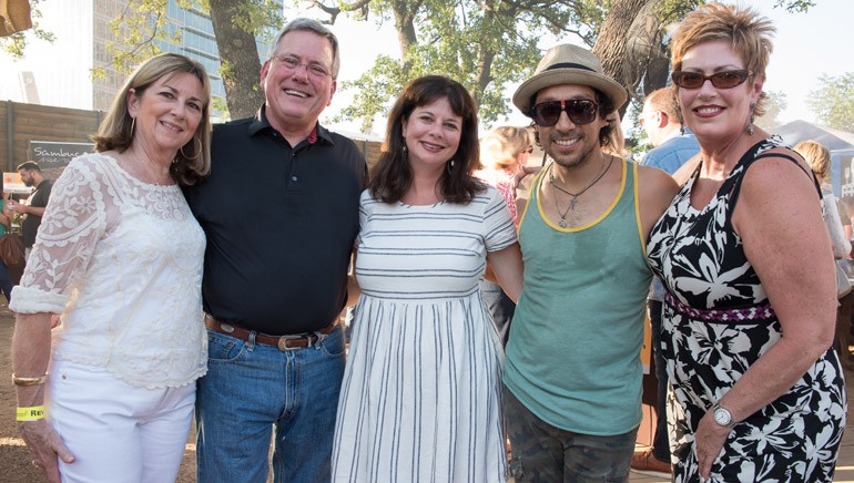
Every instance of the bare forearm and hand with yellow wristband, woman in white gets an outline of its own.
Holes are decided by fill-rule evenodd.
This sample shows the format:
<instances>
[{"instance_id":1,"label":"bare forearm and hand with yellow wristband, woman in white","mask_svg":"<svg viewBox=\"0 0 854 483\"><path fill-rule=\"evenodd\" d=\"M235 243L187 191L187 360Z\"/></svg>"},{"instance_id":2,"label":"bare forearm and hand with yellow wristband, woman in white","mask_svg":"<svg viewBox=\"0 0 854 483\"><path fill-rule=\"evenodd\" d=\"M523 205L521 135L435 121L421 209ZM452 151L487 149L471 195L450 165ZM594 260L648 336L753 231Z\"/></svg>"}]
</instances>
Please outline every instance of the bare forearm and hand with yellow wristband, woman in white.
<instances>
[{"instance_id":1,"label":"bare forearm and hand with yellow wristband, woman in white","mask_svg":"<svg viewBox=\"0 0 854 483\"><path fill-rule=\"evenodd\" d=\"M51 315L18 314L12 339L12 367L18 377L32 378L43 376L48 370L50 359L50 327ZM44 404L44 384L17 386L18 407L32 408ZM44 419L19 422L27 446L33 461L43 472L49 482L59 482L59 465L57 458L65 463L72 463L74 456L62 443Z\"/></svg>"}]
</instances>

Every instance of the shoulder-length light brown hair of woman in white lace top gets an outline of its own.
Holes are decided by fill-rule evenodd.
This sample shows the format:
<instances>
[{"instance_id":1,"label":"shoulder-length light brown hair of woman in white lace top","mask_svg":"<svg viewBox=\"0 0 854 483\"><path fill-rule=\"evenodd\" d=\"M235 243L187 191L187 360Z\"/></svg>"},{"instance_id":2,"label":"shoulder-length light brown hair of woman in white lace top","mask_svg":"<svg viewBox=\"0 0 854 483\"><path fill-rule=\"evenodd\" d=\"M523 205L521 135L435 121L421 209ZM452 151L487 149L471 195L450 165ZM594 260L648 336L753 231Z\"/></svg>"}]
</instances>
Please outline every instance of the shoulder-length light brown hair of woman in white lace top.
<instances>
[{"instance_id":1,"label":"shoulder-length light brown hair of woman in white lace top","mask_svg":"<svg viewBox=\"0 0 854 483\"><path fill-rule=\"evenodd\" d=\"M170 172L181 185L192 185L211 171L211 82L204 66L177 53L161 53L146 60L128 78L115 94L98 134L92 136L95 152L119 151L123 153L133 142L133 117L128 112L128 97L133 90L141 96L160 79L179 73L189 73L202 83L202 117L193 138L181 146ZM201 151L200 151L201 150ZM185 154L185 153L189 153Z\"/></svg>"}]
</instances>

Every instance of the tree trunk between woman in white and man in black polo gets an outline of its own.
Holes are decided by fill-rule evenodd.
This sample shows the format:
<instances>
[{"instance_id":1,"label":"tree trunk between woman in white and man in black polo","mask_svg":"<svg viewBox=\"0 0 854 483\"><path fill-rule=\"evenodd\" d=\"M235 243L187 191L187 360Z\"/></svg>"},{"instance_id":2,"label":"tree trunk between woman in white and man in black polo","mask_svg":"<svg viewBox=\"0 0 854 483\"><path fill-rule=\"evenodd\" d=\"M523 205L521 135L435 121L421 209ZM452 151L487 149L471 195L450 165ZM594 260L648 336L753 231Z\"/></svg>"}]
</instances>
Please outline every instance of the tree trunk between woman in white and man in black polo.
<instances>
[{"instance_id":1,"label":"tree trunk between woman in white and man in black polo","mask_svg":"<svg viewBox=\"0 0 854 483\"><path fill-rule=\"evenodd\" d=\"M220 74L232 119L253 116L264 103L264 92L258 85L261 63L255 38L232 21L245 1L210 0L211 22L222 63Z\"/></svg>"}]
</instances>

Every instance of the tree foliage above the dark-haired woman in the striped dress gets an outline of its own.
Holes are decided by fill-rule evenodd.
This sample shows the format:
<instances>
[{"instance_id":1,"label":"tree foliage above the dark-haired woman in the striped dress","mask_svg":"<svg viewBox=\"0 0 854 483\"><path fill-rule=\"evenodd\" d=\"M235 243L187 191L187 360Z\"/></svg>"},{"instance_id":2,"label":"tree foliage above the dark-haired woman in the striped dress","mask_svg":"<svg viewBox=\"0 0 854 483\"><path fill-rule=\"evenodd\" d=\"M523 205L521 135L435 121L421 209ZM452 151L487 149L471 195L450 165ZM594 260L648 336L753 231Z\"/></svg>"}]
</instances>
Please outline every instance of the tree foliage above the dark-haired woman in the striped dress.
<instances>
[{"instance_id":1,"label":"tree foliage above the dark-haired woman in the striped dress","mask_svg":"<svg viewBox=\"0 0 854 483\"><path fill-rule=\"evenodd\" d=\"M428 73L466 85L484 123L506 117L512 106L505 88L531 74L542 38L575 35L592 47L611 1L365 0L319 6L297 0L296 4L318 7L332 19L345 13L366 20L370 12L375 22L394 21L398 32L415 32L410 43L401 45L403 60L377 58L358 80L340 85L354 91L355 99L334 121L360 120L362 129L369 131L408 80Z\"/></svg>"}]
</instances>

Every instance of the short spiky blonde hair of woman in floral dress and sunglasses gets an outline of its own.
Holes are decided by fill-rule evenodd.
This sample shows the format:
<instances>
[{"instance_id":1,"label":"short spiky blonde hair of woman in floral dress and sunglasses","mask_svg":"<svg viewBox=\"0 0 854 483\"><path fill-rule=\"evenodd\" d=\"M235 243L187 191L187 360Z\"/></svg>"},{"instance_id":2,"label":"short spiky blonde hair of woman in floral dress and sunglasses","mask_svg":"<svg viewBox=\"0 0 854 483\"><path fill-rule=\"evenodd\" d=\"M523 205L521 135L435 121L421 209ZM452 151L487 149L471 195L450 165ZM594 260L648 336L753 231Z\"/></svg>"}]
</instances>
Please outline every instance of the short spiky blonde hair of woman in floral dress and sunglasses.
<instances>
[{"instance_id":1,"label":"short spiky blonde hair of woman in floral dress and sunglasses","mask_svg":"<svg viewBox=\"0 0 854 483\"><path fill-rule=\"evenodd\" d=\"M723 40L730 43L755 79L765 78L765 68L774 47L771 42L776 29L771 20L760 17L750 8L706 3L685 16L670 42L670 63L674 71L682 69L682 59L692 48ZM679 86L673 86L678 92ZM756 102L754 113L759 117L765 113L763 92Z\"/></svg>"}]
</instances>

